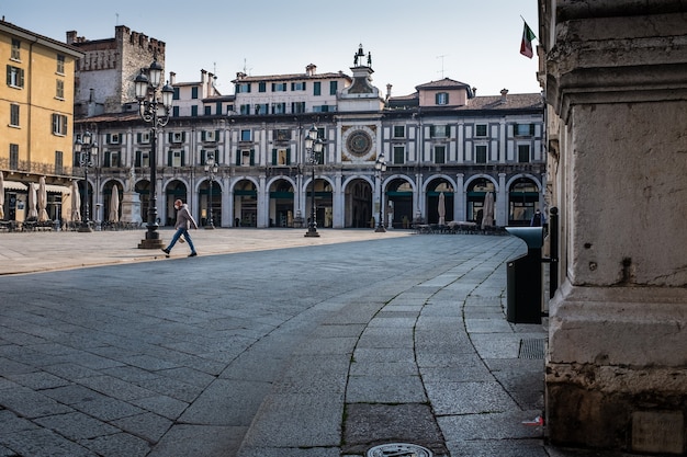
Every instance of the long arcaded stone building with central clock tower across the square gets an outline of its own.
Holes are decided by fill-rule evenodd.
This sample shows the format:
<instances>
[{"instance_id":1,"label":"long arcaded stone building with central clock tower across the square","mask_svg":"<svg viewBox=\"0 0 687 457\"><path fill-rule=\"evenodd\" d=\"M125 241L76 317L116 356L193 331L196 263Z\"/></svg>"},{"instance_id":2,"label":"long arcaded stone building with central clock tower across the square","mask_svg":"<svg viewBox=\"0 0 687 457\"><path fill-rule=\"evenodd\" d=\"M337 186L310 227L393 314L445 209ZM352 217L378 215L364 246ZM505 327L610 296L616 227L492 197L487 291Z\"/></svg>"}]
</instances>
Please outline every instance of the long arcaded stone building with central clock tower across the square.
<instances>
[{"instance_id":1,"label":"long arcaded stone building with central clock tower across the square","mask_svg":"<svg viewBox=\"0 0 687 457\"><path fill-rule=\"evenodd\" d=\"M302 73L237 73L232 95L214 90L214 75L202 71L201 81L184 83L171 75L174 108L157 138L160 222L172 224L181 198L202 224L212 210L221 227L299 227L312 214L313 187L320 228L371 227L380 207L390 227L437 224L441 193L447 221L477 220L493 192L497 226L529 222L544 185L541 94L476 96L470 85L443 79L394 98L372 84L371 54L362 46L351 71L319 73L309 64ZM146 219L149 126L132 102L79 122L103 145L89 179L100 220L113 188L134 188ZM325 142L314 184L304 150L313 125ZM374 163L382 155L380 192ZM212 175L210 156L217 164Z\"/></svg>"}]
</instances>

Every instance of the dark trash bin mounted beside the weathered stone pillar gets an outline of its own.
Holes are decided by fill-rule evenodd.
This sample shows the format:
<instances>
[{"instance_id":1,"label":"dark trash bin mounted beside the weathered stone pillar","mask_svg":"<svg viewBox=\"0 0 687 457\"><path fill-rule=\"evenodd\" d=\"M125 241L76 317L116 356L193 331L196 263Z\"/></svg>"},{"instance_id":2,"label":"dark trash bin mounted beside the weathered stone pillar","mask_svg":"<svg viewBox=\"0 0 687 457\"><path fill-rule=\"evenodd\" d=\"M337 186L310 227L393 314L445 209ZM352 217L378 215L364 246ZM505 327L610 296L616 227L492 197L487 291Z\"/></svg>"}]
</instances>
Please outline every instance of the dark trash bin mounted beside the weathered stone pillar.
<instances>
[{"instance_id":1,"label":"dark trash bin mounted beside the weathered stone pillar","mask_svg":"<svg viewBox=\"0 0 687 457\"><path fill-rule=\"evenodd\" d=\"M527 244L527 254L506 263L506 319L513 323L541 323L542 227L506 227Z\"/></svg>"}]
</instances>

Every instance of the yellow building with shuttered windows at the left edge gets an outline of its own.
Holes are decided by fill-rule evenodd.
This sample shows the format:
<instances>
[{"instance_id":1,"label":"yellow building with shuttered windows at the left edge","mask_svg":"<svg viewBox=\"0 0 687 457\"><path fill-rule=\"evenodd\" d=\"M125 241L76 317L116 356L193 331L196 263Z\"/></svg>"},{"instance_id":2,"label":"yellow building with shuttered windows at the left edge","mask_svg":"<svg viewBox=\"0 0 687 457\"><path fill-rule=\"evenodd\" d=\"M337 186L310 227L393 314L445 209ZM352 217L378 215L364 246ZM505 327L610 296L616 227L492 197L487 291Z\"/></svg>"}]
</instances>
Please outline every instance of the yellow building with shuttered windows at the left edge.
<instances>
[{"instance_id":1,"label":"yellow building with shuttered windows at the left edge","mask_svg":"<svg viewBox=\"0 0 687 457\"><path fill-rule=\"evenodd\" d=\"M45 178L46 212L58 219L68 204L74 164L75 62L83 53L0 21L0 171L3 220L30 217L29 191ZM2 199L0 199L2 202Z\"/></svg>"}]
</instances>

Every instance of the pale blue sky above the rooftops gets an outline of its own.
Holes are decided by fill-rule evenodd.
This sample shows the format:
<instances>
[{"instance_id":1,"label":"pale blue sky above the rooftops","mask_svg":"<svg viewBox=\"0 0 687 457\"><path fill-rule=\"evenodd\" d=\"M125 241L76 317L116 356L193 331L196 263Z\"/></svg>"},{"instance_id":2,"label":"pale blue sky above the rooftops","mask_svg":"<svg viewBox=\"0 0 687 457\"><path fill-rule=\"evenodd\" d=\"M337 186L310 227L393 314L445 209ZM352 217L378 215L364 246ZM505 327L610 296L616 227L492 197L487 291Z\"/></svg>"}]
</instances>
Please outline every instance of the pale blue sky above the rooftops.
<instances>
[{"instance_id":1,"label":"pale blue sky above the rooftops","mask_svg":"<svg viewBox=\"0 0 687 457\"><path fill-rule=\"evenodd\" d=\"M251 0L151 2L21 0L0 7L4 20L64 42L67 31L87 39L114 36L116 25L167 44L166 72L177 81L217 76L233 93L238 71L251 76L318 72L351 75L362 44L372 53L373 84L393 95L451 78L478 95L540 92L532 59L519 53L523 18L538 33L537 0ZM534 42L537 45L537 42Z\"/></svg>"}]
</instances>

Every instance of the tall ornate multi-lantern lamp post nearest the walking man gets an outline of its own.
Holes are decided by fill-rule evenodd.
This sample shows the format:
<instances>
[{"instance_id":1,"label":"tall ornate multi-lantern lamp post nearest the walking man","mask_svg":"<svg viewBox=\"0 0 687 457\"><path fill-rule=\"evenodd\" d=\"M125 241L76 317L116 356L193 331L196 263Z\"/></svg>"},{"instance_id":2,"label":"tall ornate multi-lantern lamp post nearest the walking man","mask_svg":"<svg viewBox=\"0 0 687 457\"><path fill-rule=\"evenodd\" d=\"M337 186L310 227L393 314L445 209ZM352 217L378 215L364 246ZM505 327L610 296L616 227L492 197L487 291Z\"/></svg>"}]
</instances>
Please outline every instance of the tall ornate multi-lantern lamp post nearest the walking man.
<instances>
[{"instance_id":1,"label":"tall ornate multi-lantern lamp post nearest the walking man","mask_svg":"<svg viewBox=\"0 0 687 457\"><path fill-rule=\"evenodd\" d=\"M139 249L161 249L164 247L160 233L157 231L157 129L165 127L169 122L172 98L174 89L165 84L161 92L161 100L158 99L158 89L162 80L162 66L158 64L157 56L147 69L144 69L134 80L136 89L136 100L138 101L138 114L140 118L151 125L150 127L150 197L148 202L148 231L146 238L138 244Z\"/></svg>"}]
</instances>

